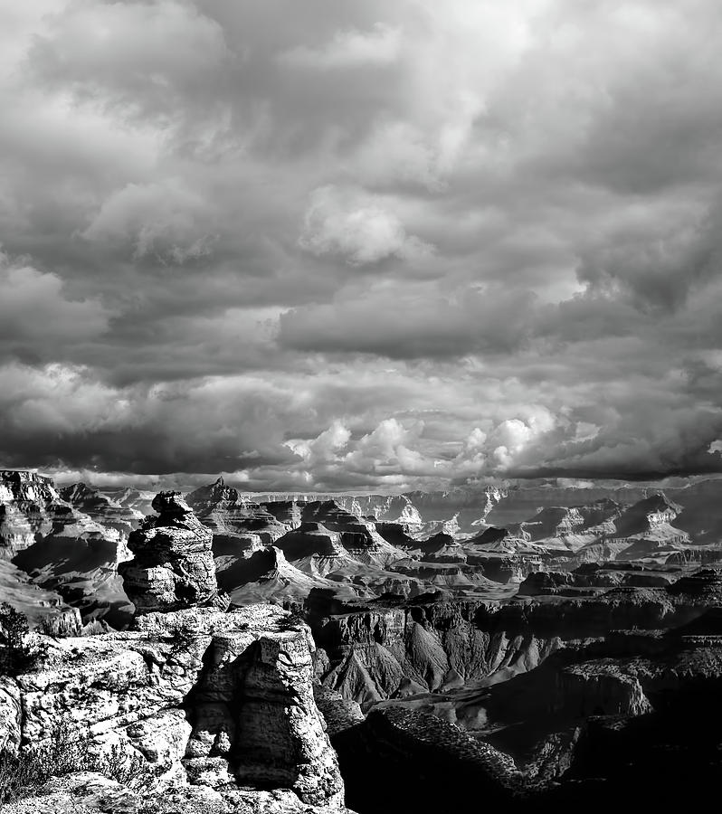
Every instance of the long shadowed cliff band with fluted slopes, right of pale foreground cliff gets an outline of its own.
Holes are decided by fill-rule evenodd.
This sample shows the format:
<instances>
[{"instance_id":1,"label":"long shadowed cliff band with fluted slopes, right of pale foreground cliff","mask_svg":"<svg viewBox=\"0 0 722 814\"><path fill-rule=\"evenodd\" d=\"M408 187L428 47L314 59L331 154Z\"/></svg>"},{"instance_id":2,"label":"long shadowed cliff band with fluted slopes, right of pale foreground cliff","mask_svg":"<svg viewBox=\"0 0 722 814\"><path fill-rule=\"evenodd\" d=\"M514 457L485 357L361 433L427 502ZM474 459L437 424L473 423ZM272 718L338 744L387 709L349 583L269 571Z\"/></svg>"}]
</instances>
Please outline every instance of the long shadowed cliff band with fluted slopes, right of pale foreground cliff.
<instances>
[{"instance_id":1,"label":"long shadowed cliff band with fluted slopes, right of pale foreground cliff","mask_svg":"<svg viewBox=\"0 0 722 814\"><path fill-rule=\"evenodd\" d=\"M371 705L386 698L445 692L470 681L498 683L579 648L613 629L699 624L722 606L722 576L707 570L666 588L618 587L594 596L498 601L370 603L334 607L309 598L321 682ZM606 679L604 679L606 680Z\"/></svg>"}]
</instances>

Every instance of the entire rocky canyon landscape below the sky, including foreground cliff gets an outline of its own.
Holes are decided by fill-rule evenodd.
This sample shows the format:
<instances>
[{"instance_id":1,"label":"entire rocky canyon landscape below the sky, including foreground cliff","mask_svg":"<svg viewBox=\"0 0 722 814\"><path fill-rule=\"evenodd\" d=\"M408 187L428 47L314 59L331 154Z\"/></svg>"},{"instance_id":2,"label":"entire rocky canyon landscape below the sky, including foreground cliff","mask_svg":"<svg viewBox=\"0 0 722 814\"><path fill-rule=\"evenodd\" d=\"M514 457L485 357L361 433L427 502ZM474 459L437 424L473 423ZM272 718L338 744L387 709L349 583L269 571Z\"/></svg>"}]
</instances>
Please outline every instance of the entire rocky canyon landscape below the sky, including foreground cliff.
<instances>
[{"instance_id":1,"label":"entire rocky canyon landscape below the sky, including foreground cliff","mask_svg":"<svg viewBox=\"0 0 722 814\"><path fill-rule=\"evenodd\" d=\"M4 471L0 601L29 629L13 669L0 614L0 752L62 733L87 763L5 808L526 811L711 789L720 490L155 495ZM651 771L667 781L642 790Z\"/></svg>"}]
</instances>

